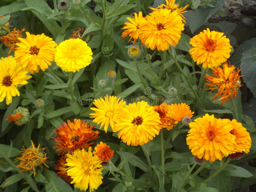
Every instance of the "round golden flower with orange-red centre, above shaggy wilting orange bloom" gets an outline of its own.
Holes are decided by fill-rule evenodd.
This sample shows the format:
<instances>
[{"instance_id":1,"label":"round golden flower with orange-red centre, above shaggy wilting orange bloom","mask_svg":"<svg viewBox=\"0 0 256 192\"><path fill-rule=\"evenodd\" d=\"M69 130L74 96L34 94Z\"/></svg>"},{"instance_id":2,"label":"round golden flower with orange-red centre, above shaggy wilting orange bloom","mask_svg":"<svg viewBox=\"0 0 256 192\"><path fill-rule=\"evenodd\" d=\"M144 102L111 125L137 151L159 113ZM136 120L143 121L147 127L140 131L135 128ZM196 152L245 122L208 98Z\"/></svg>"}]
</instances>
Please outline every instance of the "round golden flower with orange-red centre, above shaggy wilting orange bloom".
<instances>
[{"instance_id":1,"label":"round golden flower with orange-red centre, above shaggy wilting orange bloom","mask_svg":"<svg viewBox=\"0 0 256 192\"><path fill-rule=\"evenodd\" d=\"M189 54L197 65L203 63L204 68L214 68L227 61L230 57L231 46L224 33L206 29L191 38L189 44L193 46Z\"/></svg>"}]
</instances>

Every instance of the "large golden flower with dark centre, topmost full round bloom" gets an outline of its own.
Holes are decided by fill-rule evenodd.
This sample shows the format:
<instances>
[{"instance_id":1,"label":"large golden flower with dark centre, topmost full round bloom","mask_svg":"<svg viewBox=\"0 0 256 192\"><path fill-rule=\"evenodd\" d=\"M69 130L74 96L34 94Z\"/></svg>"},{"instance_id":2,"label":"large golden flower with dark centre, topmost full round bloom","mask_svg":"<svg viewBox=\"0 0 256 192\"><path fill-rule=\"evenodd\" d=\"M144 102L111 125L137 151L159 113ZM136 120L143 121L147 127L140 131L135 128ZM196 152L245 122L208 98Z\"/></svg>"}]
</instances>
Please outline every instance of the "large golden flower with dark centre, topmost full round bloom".
<instances>
[{"instance_id":1,"label":"large golden flower with dark centre, topmost full round bloom","mask_svg":"<svg viewBox=\"0 0 256 192\"><path fill-rule=\"evenodd\" d=\"M147 16L146 22L140 26L141 43L157 51L169 49L170 45L179 43L184 23L179 12L167 9L156 10Z\"/></svg>"}]
</instances>

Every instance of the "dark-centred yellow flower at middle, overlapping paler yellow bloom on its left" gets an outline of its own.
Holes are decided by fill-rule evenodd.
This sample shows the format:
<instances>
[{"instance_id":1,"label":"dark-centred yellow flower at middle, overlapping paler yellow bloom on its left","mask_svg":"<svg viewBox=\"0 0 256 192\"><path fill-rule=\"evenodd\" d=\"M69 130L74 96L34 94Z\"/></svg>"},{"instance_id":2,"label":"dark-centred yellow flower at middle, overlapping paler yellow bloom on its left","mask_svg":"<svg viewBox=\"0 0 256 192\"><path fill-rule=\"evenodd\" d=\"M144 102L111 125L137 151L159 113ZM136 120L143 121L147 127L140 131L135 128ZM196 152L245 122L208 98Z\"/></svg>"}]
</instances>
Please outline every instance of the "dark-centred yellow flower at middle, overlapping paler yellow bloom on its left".
<instances>
[{"instance_id":1,"label":"dark-centred yellow flower at middle, overlapping paler yellow bloom on its left","mask_svg":"<svg viewBox=\"0 0 256 192\"><path fill-rule=\"evenodd\" d=\"M159 114L145 101L124 106L118 115L114 132L118 132L127 145L138 146L148 143L159 134L161 127Z\"/></svg>"}]
</instances>

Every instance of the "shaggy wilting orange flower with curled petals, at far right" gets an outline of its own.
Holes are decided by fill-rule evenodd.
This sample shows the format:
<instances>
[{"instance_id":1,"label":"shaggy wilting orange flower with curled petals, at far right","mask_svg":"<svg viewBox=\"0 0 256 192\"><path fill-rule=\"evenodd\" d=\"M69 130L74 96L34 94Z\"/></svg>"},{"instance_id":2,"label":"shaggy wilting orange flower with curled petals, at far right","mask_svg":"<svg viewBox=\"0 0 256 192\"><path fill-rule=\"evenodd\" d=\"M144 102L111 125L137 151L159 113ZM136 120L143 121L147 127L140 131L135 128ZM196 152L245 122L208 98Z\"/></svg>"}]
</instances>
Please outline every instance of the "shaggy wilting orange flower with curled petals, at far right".
<instances>
[{"instance_id":1,"label":"shaggy wilting orange flower with curled petals, at far right","mask_svg":"<svg viewBox=\"0 0 256 192\"><path fill-rule=\"evenodd\" d=\"M228 102L229 99L234 99L236 94L241 86L241 81L239 76L239 72L241 69L235 70L236 67L234 65L230 65L227 62L221 67L216 67L212 69L212 75L205 75L205 79L209 83L205 83L205 85L209 85L210 88L206 90L218 90L218 93L212 98L212 100L217 99L220 95L221 105L224 102Z\"/></svg>"}]
</instances>

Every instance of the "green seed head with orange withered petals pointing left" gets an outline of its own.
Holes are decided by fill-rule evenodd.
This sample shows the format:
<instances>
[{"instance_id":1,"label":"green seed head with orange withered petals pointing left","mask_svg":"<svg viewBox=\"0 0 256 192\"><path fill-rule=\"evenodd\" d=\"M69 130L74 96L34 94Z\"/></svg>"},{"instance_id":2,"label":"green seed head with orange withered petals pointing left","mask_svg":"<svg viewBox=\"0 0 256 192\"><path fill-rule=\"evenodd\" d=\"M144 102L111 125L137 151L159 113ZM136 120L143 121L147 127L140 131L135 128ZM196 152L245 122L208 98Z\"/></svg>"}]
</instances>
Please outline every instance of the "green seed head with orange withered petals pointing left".
<instances>
[{"instance_id":1,"label":"green seed head with orange withered petals pointing left","mask_svg":"<svg viewBox=\"0 0 256 192\"><path fill-rule=\"evenodd\" d=\"M15 125L24 125L28 123L29 118L28 108L19 107L13 111L12 115L9 115L8 118L6 118L6 121L10 120L10 122L15 122Z\"/></svg>"}]
</instances>

